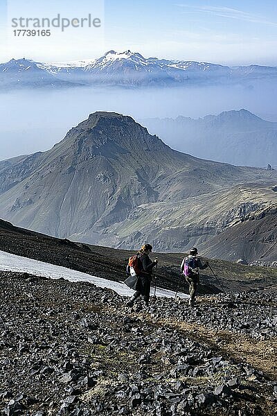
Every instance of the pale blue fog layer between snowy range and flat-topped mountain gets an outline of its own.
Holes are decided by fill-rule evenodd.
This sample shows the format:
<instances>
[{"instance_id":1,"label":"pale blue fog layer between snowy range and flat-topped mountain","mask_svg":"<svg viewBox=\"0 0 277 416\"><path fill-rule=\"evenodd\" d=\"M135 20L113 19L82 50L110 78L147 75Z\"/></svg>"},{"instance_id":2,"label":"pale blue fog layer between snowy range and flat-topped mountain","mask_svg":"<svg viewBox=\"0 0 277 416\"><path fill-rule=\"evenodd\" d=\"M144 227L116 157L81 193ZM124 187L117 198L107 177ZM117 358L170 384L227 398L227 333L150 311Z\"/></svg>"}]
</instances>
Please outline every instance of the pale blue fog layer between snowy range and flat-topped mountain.
<instances>
[{"instance_id":1,"label":"pale blue fog layer between snowy range and flat-topped mountain","mask_svg":"<svg viewBox=\"0 0 277 416\"><path fill-rule=\"evenodd\" d=\"M276 93L274 81L256 83L249 88L102 87L0 94L0 160L51 148L70 128L99 110L146 119L179 115L198 118L245 108L264 119L277 121Z\"/></svg>"}]
</instances>

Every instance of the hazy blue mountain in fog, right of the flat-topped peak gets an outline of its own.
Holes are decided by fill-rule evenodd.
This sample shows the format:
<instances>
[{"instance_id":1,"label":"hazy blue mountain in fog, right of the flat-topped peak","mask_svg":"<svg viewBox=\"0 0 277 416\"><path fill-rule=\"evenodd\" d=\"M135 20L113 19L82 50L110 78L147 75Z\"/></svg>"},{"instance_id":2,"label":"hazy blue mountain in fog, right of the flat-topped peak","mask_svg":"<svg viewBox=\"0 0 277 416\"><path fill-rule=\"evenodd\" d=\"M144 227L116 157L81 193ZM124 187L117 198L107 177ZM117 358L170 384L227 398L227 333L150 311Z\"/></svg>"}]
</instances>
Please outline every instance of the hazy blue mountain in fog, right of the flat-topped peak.
<instances>
[{"instance_id":1,"label":"hazy blue mountain in fog, right of the flat-topped peak","mask_svg":"<svg viewBox=\"0 0 277 416\"><path fill-rule=\"evenodd\" d=\"M190 119L144 119L173 148L207 159L240 166L277 166L277 123L247 110Z\"/></svg>"}]
</instances>

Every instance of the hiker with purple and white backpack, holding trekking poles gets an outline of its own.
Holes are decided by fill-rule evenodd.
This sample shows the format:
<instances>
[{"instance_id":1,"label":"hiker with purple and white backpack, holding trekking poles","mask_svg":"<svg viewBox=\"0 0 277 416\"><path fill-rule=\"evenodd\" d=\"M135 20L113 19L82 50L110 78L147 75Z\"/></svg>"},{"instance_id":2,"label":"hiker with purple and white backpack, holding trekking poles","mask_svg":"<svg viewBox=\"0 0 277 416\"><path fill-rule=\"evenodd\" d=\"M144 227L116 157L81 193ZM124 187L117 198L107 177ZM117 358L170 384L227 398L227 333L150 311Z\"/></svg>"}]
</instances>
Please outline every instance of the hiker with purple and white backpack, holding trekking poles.
<instances>
[{"instance_id":1,"label":"hiker with purple and white backpack, holding trekking poles","mask_svg":"<svg viewBox=\"0 0 277 416\"><path fill-rule=\"evenodd\" d=\"M202 264L200 259L197 257L198 250L193 247L190 249L188 257L184 257L181 262L181 273L186 277L186 281L189 284L190 300L189 305L195 304L195 297L197 292L197 286L199 284L199 270L204 270L208 267L208 261Z\"/></svg>"}]
</instances>

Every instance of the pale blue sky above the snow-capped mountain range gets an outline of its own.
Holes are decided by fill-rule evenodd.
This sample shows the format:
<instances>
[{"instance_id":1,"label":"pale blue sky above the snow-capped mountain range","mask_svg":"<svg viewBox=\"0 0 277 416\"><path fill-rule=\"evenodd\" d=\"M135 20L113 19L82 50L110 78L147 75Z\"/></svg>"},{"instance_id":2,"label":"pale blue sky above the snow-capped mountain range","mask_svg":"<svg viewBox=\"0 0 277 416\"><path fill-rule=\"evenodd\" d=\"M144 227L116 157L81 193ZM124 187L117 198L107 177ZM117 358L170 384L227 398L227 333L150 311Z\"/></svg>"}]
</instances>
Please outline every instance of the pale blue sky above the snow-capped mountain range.
<instances>
[{"instance_id":1,"label":"pale blue sky above the snow-capped mountain range","mask_svg":"<svg viewBox=\"0 0 277 416\"><path fill-rule=\"evenodd\" d=\"M101 28L54 29L51 37L15 37L11 19L101 19ZM131 49L158 58L277 65L276 0L0 0L0 61L58 62Z\"/></svg>"}]
</instances>

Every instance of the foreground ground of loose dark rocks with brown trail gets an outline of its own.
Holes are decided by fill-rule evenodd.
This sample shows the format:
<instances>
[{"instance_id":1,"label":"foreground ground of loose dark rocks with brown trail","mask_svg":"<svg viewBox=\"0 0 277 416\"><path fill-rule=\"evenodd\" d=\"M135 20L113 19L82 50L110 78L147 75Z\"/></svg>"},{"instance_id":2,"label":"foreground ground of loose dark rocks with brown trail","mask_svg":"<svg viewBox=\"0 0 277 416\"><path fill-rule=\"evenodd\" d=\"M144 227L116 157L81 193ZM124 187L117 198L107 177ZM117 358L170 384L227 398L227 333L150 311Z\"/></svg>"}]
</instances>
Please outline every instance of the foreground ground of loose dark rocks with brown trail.
<instances>
[{"instance_id":1,"label":"foreground ground of loose dark rocks with brown trail","mask_svg":"<svg viewBox=\"0 0 277 416\"><path fill-rule=\"evenodd\" d=\"M88 283L0 272L2 415L276 415L276 294L130 310Z\"/></svg>"}]
</instances>

